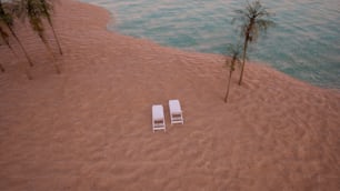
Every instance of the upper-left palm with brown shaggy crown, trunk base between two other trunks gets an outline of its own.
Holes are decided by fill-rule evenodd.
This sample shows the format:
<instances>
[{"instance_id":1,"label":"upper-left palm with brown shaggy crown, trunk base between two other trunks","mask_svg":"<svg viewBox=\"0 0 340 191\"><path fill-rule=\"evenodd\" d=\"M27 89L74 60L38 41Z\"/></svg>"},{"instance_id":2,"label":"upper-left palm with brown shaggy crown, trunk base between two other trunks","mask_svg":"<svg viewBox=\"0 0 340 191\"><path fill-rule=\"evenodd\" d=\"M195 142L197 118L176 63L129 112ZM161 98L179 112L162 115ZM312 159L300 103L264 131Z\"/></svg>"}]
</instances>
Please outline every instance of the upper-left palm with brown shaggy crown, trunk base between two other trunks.
<instances>
[{"instance_id":1,"label":"upper-left palm with brown shaggy crown, trunk base between two other trunks","mask_svg":"<svg viewBox=\"0 0 340 191\"><path fill-rule=\"evenodd\" d=\"M56 64L54 54L44 36L44 28L43 28L43 22L41 19L43 17L43 11L44 9L40 0L21 0L19 13L20 14L23 13L23 17L28 17L30 26L32 27L33 31L38 33L39 38L42 40L48 51L52 56L54 60L53 66L56 68L57 73L60 73L59 66Z\"/></svg>"}]
</instances>

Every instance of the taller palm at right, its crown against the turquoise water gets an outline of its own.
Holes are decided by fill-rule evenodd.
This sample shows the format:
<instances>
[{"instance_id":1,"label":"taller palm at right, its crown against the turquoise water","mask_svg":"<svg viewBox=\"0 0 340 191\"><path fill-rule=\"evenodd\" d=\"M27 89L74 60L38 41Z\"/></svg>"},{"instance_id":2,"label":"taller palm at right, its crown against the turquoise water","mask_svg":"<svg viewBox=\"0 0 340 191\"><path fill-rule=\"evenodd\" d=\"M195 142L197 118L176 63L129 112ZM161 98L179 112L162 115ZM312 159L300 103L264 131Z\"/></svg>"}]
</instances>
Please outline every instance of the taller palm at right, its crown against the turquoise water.
<instances>
[{"instance_id":1,"label":"taller palm at right, its crown against the turquoise water","mask_svg":"<svg viewBox=\"0 0 340 191\"><path fill-rule=\"evenodd\" d=\"M252 3L248 2L246 10L236 10L238 14L234 20L241 21L241 37L244 38L243 42L243 56L242 56L242 68L239 84L242 82L246 54L248 49L248 43L256 42L258 36L261 31L267 31L268 27L273 26L274 22L270 20L272 13L267 11L259 0Z\"/></svg>"}]
</instances>

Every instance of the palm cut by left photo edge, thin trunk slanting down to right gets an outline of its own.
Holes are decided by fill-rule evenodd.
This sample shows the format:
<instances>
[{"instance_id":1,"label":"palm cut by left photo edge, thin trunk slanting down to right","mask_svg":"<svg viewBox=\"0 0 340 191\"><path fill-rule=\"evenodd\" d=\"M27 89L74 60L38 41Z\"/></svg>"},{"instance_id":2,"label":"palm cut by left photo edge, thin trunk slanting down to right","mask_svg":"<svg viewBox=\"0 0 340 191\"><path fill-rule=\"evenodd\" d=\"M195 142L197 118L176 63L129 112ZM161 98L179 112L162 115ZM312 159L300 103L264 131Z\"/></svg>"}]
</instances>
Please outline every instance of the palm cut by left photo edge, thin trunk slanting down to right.
<instances>
[{"instance_id":1,"label":"palm cut by left photo edge, thin trunk slanting down to right","mask_svg":"<svg viewBox=\"0 0 340 191\"><path fill-rule=\"evenodd\" d=\"M0 26L6 26L10 30L11 34L14 37L21 50L23 51L30 67L33 67L33 62L31 61L29 54L27 53L26 49L23 48L21 41L19 40L18 36L13 30L13 23L14 23L13 16L11 13L6 12L3 4L0 0Z\"/></svg>"}]
</instances>

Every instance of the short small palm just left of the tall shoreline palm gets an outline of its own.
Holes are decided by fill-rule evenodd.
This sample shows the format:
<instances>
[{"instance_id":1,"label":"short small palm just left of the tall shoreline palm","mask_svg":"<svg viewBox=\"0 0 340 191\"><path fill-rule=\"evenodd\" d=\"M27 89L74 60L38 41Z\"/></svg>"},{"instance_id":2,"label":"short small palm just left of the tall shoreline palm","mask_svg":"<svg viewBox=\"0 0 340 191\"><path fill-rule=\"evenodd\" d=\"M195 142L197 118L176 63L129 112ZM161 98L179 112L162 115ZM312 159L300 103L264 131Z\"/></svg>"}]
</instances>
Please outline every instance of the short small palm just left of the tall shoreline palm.
<instances>
[{"instance_id":1,"label":"short small palm just left of the tall shoreline palm","mask_svg":"<svg viewBox=\"0 0 340 191\"><path fill-rule=\"evenodd\" d=\"M236 64L241 63L241 60L240 60L241 46L238 44L238 46L234 47L232 44L229 44L229 47L228 47L228 54L231 56L231 60L230 59L226 60L226 66L230 68L230 70L229 70L229 79L228 79L228 83L227 83L227 92L226 92L226 97L224 97L224 102L226 103L228 101L229 88L230 88L230 81L231 81L232 72L234 71Z\"/></svg>"}]
</instances>

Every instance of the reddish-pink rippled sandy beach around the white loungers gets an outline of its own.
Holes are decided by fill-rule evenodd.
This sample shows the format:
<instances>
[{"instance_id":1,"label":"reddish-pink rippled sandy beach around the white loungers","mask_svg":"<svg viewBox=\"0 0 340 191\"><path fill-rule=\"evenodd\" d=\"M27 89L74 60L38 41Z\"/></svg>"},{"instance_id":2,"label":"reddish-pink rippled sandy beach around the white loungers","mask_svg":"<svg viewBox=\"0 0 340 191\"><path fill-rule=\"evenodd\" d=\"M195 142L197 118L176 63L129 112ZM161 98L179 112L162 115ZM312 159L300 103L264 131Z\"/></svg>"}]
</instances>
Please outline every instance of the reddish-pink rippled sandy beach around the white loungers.
<instances>
[{"instance_id":1,"label":"reddish-pink rippled sandy beach around the white loungers","mask_svg":"<svg viewBox=\"0 0 340 191\"><path fill-rule=\"evenodd\" d=\"M0 47L0 190L340 190L339 90L248 63L226 104L223 56L110 32L99 7L60 0L54 13L56 60L17 29L33 80L17 43ZM170 99L184 124L170 124ZM167 132L152 132L157 103Z\"/></svg>"}]
</instances>

